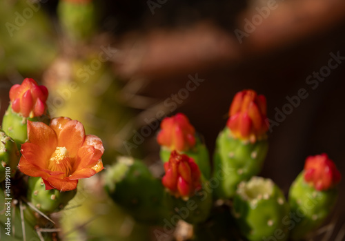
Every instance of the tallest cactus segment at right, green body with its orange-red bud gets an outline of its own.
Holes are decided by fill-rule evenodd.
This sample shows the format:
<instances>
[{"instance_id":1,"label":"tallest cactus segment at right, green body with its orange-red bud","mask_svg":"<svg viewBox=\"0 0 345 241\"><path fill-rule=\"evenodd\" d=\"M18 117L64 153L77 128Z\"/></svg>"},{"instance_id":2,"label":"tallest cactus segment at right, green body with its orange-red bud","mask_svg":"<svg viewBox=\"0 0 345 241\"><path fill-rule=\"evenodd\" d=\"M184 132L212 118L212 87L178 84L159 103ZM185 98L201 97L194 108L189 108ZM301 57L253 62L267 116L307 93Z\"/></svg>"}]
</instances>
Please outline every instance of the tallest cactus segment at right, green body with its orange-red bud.
<instances>
[{"instance_id":1,"label":"tallest cactus segment at right, green body with its orange-red bud","mask_svg":"<svg viewBox=\"0 0 345 241\"><path fill-rule=\"evenodd\" d=\"M218 198L233 197L237 184L257 175L268 151L266 99L254 90L237 93L230 106L226 128L217 137L213 177L220 184Z\"/></svg>"}]
</instances>

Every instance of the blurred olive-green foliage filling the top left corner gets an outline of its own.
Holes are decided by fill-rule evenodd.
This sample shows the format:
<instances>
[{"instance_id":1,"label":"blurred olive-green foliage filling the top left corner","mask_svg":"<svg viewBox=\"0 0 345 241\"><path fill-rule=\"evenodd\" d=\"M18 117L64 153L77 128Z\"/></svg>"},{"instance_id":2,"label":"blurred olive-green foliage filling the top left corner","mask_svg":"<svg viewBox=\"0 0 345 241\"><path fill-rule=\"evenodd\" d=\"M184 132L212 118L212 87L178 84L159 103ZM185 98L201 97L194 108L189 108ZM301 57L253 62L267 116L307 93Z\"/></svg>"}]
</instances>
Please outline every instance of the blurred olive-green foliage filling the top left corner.
<instances>
[{"instance_id":1,"label":"blurred olive-green foliage filling the top left corner","mask_svg":"<svg viewBox=\"0 0 345 241\"><path fill-rule=\"evenodd\" d=\"M0 1L0 75L40 73L57 55L56 31L43 4Z\"/></svg>"}]
</instances>

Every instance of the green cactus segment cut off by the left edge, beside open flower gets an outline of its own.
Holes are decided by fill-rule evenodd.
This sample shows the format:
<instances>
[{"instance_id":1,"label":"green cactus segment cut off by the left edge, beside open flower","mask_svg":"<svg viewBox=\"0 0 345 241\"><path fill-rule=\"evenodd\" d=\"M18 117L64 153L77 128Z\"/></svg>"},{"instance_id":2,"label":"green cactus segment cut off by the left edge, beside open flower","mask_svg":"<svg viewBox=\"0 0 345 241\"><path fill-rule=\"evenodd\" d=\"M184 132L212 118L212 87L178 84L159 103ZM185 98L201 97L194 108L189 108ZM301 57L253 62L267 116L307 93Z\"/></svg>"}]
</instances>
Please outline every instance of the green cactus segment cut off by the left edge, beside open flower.
<instances>
[{"instance_id":1,"label":"green cactus segment cut off by the left edge, beside open flower","mask_svg":"<svg viewBox=\"0 0 345 241\"><path fill-rule=\"evenodd\" d=\"M17 171L19 151L15 142L0 129L0 182L6 179L6 174L13 177ZM6 172L7 171L7 172Z\"/></svg>"}]
</instances>

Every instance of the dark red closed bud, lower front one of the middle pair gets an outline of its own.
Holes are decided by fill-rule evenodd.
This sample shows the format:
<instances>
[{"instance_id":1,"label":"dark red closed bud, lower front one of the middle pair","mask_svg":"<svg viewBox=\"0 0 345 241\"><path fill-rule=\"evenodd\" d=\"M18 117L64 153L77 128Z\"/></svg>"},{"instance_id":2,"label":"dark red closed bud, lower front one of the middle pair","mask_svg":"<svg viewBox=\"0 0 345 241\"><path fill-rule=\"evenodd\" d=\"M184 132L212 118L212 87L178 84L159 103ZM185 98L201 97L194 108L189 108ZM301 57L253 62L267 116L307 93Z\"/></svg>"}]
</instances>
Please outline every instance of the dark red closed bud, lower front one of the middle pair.
<instances>
[{"instance_id":1,"label":"dark red closed bud, lower front one of the middle pair","mask_svg":"<svg viewBox=\"0 0 345 241\"><path fill-rule=\"evenodd\" d=\"M201 189L199 166L188 155L172 151L164 170L166 174L161 182L175 197L192 197L195 191Z\"/></svg>"}]
</instances>

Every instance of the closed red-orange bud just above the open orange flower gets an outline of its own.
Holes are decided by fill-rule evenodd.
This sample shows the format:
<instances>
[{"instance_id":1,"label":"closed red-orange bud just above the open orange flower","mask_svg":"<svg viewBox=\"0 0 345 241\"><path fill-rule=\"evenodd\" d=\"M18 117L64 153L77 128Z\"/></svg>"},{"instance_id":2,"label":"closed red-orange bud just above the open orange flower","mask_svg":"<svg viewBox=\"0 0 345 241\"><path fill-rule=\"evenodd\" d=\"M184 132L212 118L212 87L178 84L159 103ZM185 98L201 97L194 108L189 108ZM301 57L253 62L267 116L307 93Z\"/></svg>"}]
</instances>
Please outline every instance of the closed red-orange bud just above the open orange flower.
<instances>
[{"instance_id":1,"label":"closed red-orange bud just above the open orange flower","mask_svg":"<svg viewBox=\"0 0 345 241\"><path fill-rule=\"evenodd\" d=\"M23 117L41 116L46 112L48 90L39 86L34 79L26 78L23 83L15 84L10 89L12 110Z\"/></svg>"}]
</instances>

